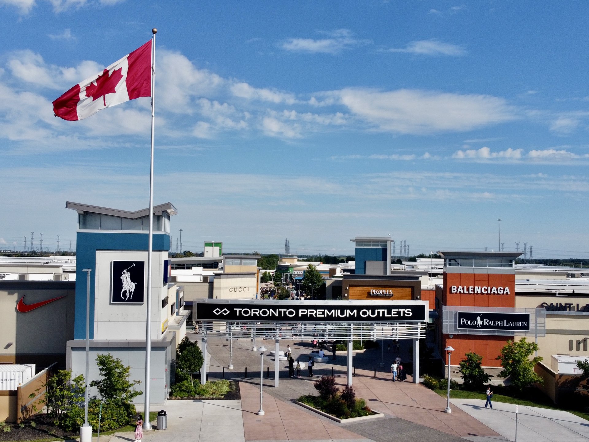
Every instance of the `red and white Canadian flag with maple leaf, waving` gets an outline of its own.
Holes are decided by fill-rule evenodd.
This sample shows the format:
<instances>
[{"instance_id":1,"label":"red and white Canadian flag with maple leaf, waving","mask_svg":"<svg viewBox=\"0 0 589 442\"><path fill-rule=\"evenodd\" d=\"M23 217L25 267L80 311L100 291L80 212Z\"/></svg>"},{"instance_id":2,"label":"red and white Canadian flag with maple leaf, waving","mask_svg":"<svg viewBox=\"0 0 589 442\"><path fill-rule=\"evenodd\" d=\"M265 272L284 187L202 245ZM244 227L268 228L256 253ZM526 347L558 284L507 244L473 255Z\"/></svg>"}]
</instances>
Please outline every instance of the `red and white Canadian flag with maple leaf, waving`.
<instances>
[{"instance_id":1,"label":"red and white Canadian flag with maple leaf, waving","mask_svg":"<svg viewBox=\"0 0 589 442\"><path fill-rule=\"evenodd\" d=\"M151 97L151 40L65 92L53 102L53 111L75 121L139 97Z\"/></svg>"}]
</instances>

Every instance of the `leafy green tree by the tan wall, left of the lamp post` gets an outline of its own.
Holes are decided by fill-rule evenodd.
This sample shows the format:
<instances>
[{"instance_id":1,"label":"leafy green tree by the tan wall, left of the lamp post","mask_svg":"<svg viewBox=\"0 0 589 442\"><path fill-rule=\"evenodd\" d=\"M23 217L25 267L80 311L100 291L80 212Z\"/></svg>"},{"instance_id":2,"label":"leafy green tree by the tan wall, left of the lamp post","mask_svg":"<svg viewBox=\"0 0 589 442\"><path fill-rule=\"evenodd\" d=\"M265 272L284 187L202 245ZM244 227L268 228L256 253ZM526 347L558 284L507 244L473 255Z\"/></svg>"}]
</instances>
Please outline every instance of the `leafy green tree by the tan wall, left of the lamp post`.
<instances>
[{"instance_id":1,"label":"leafy green tree by the tan wall, left of the lamp post","mask_svg":"<svg viewBox=\"0 0 589 442\"><path fill-rule=\"evenodd\" d=\"M47 414L53 419L55 426L62 423L68 411L84 402L84 376L80 374L72 379L71 370L59 370L47 380L47 384L37 388L36 394L31 393L29 398L37 396L43 388L46 388L45 397L39 403L47 407Z\"/></svg>"}]
</instances>

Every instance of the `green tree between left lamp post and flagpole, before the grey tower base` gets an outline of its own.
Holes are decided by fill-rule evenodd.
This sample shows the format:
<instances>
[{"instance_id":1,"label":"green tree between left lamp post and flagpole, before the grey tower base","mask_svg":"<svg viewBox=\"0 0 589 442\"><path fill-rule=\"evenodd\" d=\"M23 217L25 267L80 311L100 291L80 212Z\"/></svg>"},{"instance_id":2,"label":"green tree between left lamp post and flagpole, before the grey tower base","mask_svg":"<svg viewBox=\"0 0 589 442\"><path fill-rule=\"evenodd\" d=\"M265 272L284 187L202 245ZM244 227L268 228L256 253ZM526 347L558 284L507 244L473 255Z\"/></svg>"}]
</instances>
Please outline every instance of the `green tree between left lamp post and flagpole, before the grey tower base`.
<instances>
[{"instance_id":1,"label":"green tree between left lamp post and flagpole, before the grey tower base","mask_svg":"<svg viewBox=\"0 0 589 442\"><path fill-rule=\"evenodd\" d=\"M129 404L133 398L143 393L134 388L141 381L129 380L131 367L125 367L120 359L113 357L110 353L99 354L96 357L96 364L102 379L92 381L90 387L97 388L103 401Z\"/></svg>"}]
</instances>

